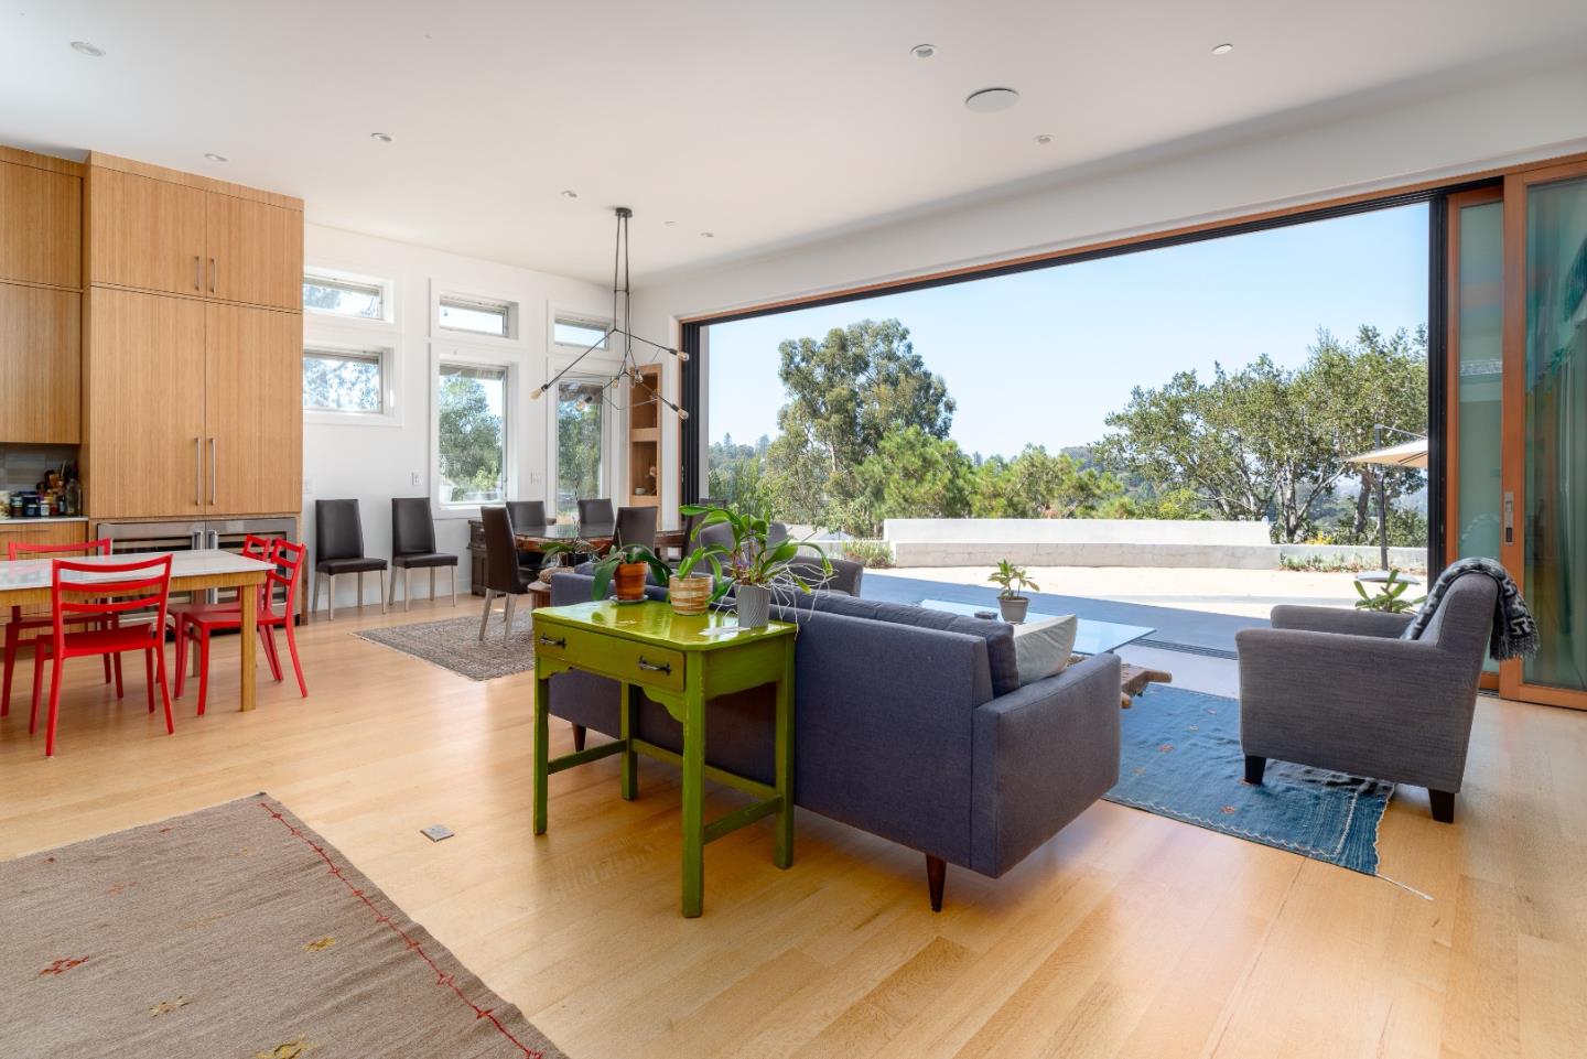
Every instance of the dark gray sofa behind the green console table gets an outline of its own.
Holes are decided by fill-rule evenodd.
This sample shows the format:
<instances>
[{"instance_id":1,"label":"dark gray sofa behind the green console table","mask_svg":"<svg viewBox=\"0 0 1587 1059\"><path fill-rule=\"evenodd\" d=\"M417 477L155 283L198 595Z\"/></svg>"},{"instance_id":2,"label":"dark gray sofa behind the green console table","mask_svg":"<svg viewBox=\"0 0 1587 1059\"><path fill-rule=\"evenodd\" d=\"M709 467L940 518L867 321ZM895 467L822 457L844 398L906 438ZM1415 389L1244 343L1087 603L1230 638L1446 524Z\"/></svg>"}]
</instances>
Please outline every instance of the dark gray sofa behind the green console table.
<instances>
[{"instance_id":1,"label":"dark gray sofa behind the green console table","mask_svg":"<svg viewBox=\"0 0 1587 1059\"><path fill-rule=\"evenodd\" d=\"M565 573L551 602L589 592L589 578ZM997 878L1119 778L1116 656L1019 687L1003 622L836 592L773 611L800 624L795 803L924 853L933 910L947 864ZM616 738L617 692L562 673L551 713ZM770 722L770 687L713 700L706 762L771 781ZM679 749L678 724L647 699L638 735Z\"/></svg>"}]
</instances>

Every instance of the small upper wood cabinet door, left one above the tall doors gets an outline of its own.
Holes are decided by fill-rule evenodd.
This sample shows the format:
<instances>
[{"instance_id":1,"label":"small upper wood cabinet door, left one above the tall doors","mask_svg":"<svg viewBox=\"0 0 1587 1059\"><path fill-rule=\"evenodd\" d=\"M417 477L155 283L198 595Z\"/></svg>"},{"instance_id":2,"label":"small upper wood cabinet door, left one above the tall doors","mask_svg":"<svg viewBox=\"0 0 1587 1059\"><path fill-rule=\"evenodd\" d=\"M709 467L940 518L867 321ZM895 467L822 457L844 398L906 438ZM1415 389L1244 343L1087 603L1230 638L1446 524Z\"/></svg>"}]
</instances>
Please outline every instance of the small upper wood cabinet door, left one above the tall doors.
<instances>
[{"instance_id":1,"label":"small upper wood cabinet door, left one above the tall doors","mask_svg":"<svg viewBox=\"0 0 1587 1059\"><path fill-rule=\"evenodd\" d=\"M89 171L89 283L202 294L205 195L186 184Z\"/></svg>"}]
</instances>

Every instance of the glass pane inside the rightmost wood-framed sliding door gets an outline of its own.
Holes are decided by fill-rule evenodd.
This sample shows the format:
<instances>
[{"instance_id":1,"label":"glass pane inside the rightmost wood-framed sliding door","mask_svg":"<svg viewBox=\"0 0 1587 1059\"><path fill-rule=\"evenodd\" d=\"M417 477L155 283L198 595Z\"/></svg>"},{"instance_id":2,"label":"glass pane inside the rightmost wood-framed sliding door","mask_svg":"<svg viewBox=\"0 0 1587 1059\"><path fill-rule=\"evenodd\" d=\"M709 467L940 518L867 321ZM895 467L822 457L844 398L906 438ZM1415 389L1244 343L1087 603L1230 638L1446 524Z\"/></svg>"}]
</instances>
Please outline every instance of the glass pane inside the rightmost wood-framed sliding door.
<instances>
[{"instance_id":1,"label":"glass pane inside the rightmost wood-framed sliding door","mask_svg":"<svg viewBox=\"0 0 1587 1059\"><path fill-rule=\"evenodd\" d=\"M1527 198L1525 681L1587 691L1587 179Z\"/></svg>"}]
</instances>

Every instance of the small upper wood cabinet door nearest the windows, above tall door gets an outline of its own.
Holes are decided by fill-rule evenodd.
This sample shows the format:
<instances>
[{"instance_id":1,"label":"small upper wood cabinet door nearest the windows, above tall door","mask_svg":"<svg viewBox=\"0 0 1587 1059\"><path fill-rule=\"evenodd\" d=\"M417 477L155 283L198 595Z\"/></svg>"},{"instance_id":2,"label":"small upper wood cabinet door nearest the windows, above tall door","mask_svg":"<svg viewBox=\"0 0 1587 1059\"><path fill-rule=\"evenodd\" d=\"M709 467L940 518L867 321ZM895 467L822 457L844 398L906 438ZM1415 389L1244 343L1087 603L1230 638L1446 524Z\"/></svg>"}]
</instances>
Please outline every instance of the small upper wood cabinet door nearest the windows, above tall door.
<instances>
[{"instance_id":1,"label":"small upper wood cabinet door nearest the windows, above tall door","mask_svg":"<svg viewBox=\"0 0 1587 1059\"><path fill-rule=\"evenodd\" d=\"M205 292L229 302L303 306L303 214L206 192Z\"/></svg>"}]
</instances>

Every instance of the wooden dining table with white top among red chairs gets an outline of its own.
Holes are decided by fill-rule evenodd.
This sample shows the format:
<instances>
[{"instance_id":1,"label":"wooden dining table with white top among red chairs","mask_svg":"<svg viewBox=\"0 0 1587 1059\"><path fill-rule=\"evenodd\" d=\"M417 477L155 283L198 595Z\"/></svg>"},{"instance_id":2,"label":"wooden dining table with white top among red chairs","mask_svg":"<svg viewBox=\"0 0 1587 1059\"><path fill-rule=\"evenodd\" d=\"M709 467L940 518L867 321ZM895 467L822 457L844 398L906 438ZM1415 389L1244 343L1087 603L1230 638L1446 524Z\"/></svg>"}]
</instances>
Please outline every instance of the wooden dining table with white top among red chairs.
<instances>
[{"instance_id":1,"label":"wooden dining table with white top among red chairs","mask_svg":"<svg viewBox=\"0 0 1587 1059\"><path fill-rule=\"evenodd\" d=\"M256 665L256 633L259 629L259 592L254 589L265 583L265 576L273 568L259 559L244 559L235 551L224 548L197 548L190 551L136 551L116 556L73 557L83 564L122 564L140 559L171 557L171 592L203 592L208 589L236 589L241 610L241 699L243 710L254 708L254 665ZM49 586L52 580L52 562L49 559L16 559L0 562L0 608L33 607L49 603ZM114 581L125 575L75 575L68 578L73 584L92 584L98 581Z\"/></svg>"}]
</instances>

